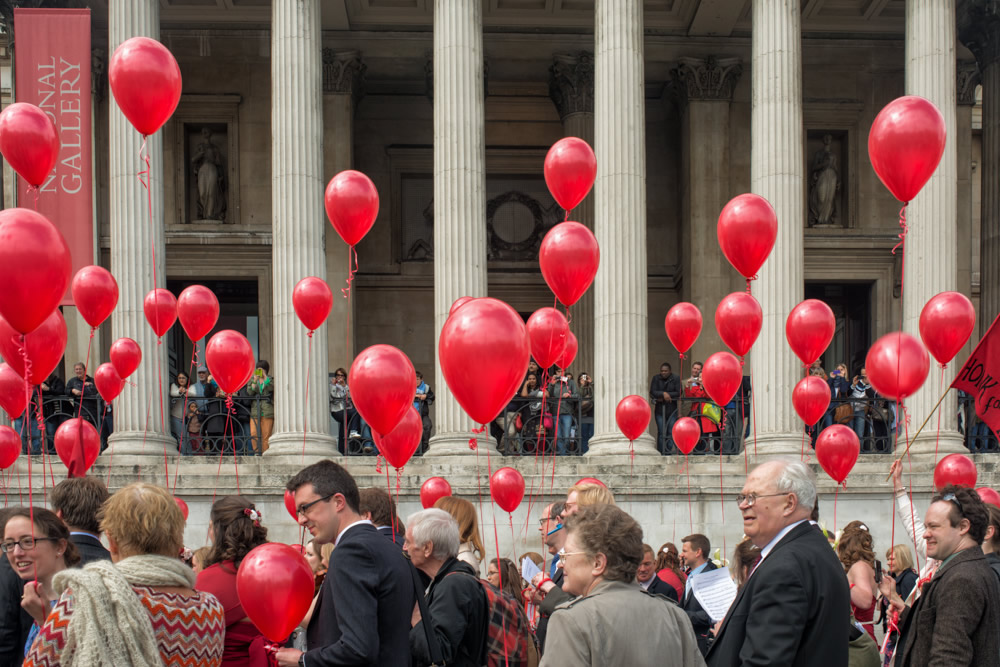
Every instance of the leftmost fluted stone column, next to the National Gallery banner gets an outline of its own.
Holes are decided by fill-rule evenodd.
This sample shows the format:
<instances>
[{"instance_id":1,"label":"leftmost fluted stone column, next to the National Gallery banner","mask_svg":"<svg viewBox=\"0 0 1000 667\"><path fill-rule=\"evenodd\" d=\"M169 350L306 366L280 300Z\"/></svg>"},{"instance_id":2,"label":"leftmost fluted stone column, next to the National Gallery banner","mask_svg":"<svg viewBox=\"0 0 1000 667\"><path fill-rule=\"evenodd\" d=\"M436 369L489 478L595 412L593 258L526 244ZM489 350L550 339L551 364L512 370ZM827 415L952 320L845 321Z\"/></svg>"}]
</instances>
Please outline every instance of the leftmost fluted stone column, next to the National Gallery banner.
<instances>
[{"instance_id":1,"label":"leftmost fluted stone column, next to the National Gallery banner","mask_svg":"<svg viewBox=\"0 0 1000 667\"><path fill-rule=\"evenodd\" d=\"M160 37L160 3L156 0L116 2L108 7L108 41L112 53L136 36ZM125 118L114 96L109 99L108 165L110 170L111 273L118 281L118 307L111 315L112 337L127 336L142 348L142 364L129 377L135 386L114 402L115 432L104 456L177 454L170 435L167 406L170 368L167 346L157 342L146 322L142 302L154 287L167 281L163 231L163 132L146 140L150 158L153 220L148 220L146 189L135 177L140 170L142 137ZM153 269L153 253L156 269ZM155 276L155 285L154 285ZM93 364L91 364L93 367ZM88 369L93 372L93 368Z\"/></svg>"}]
</instances>

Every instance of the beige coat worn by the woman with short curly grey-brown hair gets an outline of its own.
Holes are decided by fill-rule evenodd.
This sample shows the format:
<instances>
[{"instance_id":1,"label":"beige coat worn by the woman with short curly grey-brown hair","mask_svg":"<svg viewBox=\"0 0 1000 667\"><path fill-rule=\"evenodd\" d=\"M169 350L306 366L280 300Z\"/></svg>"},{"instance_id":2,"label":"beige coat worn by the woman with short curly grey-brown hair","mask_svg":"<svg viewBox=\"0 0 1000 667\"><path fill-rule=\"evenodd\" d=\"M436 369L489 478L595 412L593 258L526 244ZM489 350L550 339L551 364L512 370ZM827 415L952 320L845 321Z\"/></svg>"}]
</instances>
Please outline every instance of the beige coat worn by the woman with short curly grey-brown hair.
<instances>
[{"instance_id":1,"label":"beige coat worn by the woman with short curly grey-brown hair","mask_svg":"<svg viewBox=\"0 0 1000 667\"><path fill-rule=\"evenodd\" d=\"M602 581L549 619L541 667L704 667L691 621L637 583Z\"/></svg>"}]
</instances>

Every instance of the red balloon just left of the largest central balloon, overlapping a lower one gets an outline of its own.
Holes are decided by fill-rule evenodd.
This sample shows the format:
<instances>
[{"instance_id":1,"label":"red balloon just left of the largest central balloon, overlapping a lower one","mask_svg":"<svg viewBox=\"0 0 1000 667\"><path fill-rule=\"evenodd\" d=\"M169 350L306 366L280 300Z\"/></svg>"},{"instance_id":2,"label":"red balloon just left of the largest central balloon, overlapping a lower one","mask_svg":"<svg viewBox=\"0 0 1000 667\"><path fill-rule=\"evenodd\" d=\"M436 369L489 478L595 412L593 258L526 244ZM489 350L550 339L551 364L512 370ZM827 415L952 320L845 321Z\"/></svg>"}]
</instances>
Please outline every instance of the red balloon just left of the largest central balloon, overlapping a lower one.
<instances>
[{"instance_id":1,"label":"red balloon just left of the largest central balloon, overlapping a lower one","mask_svg":"<svg viewBox=\"0 0 1000 667\"><path fill-rule=\"evenodd\" d=\"M354 407L372 430L386 435L413 408L416 371L403 352L391 345L372 345L354 358L347 374Z\"/></svg>"}]
</instances>

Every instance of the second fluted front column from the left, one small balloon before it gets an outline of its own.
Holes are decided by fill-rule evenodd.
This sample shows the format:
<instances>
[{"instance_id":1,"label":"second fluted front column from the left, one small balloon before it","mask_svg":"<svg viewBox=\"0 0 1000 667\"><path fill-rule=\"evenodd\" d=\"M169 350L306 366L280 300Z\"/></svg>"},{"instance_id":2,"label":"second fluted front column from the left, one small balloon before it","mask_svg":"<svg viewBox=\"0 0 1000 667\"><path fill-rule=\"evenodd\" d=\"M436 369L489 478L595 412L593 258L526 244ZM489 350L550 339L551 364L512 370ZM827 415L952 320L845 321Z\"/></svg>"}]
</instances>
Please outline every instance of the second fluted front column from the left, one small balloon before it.
<instances>
[{"instance_id":1,"label":"second fluted front column from the left, one small balloon before it","mask_svg":"<svg viewBox=\"0 0 1000 667\"><path fill-rule=\"evenodd\" d=\"M274 433L268 454L336 455L330 436L327 329L309 339L292 290L326 278L319 0L274 0L271 14L271 218L274 263ZM309 400L306 401L306 373Z\"/></svg>"}]
</instances>

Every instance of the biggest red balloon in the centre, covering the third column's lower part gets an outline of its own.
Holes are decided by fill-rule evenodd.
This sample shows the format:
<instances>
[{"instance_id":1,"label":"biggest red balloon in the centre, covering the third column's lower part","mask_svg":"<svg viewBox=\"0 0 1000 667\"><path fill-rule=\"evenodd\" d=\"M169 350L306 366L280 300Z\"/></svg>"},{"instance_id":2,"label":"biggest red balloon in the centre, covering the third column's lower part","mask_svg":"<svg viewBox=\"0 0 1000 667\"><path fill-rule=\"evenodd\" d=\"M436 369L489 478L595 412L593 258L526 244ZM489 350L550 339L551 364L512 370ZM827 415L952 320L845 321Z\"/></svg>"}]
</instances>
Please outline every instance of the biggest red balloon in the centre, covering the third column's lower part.
<instances>
[{"instance_id":1,"label":"biggest red balloon in the centre, covering the third column's lower part","mask_svg":"<svg viewBox=\"0 0 1000 667\"><path fill-rule=\"evenodd\" d=\"M438 361L448 388L480 424L496 419L521 388L529 358L524 321L496 299L475 299L456 310L438 339Z\"/></svg>"}]
</instances>

